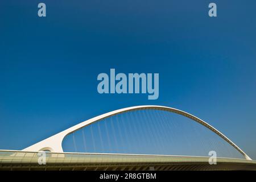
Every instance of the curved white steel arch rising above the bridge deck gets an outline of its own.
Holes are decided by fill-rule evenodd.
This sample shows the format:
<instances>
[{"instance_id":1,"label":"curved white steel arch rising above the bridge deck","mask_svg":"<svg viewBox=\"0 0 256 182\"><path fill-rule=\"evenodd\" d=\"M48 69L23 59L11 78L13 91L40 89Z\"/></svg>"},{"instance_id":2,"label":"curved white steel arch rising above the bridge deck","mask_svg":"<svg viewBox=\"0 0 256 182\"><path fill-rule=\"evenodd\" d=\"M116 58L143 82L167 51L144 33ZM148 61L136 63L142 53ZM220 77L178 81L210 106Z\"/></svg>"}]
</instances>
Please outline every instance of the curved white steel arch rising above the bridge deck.
<instances>
[{"instance_id":1,"label":"curved white steel arch rising above the bridge deck","mask_svg":"<svg viewBox=\"0 0 256 182\"><path fill-rule=\"evenodd\" d=\"M57 133L57 134L53 135L52 137L44 139L41 142L35 143L30 147L24 148L23 151L42 151L42 149L44 149L44 148L48 148L48 149L50 148L51 152L63 152L63 148L62 148L61 144L66 135L68 135L76 130L81 129L82 127L85 127L86 125L90 125L93 122L110 117L112 115L116 115L116 114L123 113L126 111L141 110L141 109L166 110L166 111L170 111L172 113L177 113L177 114L183 115L187 118L191 118L193 121L196 121L196 122L200 123L201 125L207 127L209 130L216 133L222 139L226 140L226 142L231 144L234 148L236 148L237 151L239 151L243 156L245 156L245 159L251 160L251 158L247 154L245 154L245 152L243 152L241 150L241 148L239 148L230 139L228 139L228 137L226 137L224 134L222 134L220 131L218 131L217 129L215 129L213 126L209 125L207 122L203 121L202 119L197 118L194 115L186 113L185 111L182 111L179 109L175 109L172 107L166 107L166 106L156 106L156 105L126 107L123 109L118 109L118 110L110 111L109 113L98 115L97 117L88 119L87 121L81 122L75 126L70 127L67 130L61 131L60 133Z\"/></svg>"}]
</instances>

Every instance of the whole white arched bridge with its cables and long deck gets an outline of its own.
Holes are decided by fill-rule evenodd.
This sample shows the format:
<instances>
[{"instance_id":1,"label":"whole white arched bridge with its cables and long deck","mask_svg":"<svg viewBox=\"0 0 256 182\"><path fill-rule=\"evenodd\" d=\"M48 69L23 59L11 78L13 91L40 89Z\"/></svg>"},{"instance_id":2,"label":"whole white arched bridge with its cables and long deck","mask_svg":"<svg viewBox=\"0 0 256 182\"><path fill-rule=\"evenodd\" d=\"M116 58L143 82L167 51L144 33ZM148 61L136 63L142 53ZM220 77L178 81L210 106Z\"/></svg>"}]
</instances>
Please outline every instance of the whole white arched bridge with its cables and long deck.
<instances>
[{"instance_id":1,"label":"whole white arched bridge with its cables and long deck","mask_svg":"<svg viewBox=\"0 0 256 182\"><path fill-rule=\"evenodd\" d=\"M209 164L211 151L217 164ZM0 169L255 170L256 161L202 119L147 105L98 115L21 151L0 150Z\"/></svg>"}]
</instances>

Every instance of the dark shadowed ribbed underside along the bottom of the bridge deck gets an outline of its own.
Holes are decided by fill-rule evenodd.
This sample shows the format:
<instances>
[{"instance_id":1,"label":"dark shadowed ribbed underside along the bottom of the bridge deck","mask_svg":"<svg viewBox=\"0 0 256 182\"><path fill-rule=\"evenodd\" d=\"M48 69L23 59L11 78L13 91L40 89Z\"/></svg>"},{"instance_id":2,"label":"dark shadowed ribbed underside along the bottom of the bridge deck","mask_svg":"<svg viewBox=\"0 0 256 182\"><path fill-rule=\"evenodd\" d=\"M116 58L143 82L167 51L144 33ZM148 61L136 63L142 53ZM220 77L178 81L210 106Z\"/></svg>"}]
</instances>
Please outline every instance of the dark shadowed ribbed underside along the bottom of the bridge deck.
<instances>
[{"instance_id":1,"label":"dark shadowed ribbed underside along the bottom of the bridge deck","mask_svg":"<svg viewBox=\"0 0 256 182\"><path fill-rule=\"evenodd\" d=\"M1 164L0 171L183 171L183 170L217 170L217 171L237 171L237 170L256 170L256 165L241 163L221 163L209 165L207 163L105 163L105 164Z\"/></svg>"}]
</instances>

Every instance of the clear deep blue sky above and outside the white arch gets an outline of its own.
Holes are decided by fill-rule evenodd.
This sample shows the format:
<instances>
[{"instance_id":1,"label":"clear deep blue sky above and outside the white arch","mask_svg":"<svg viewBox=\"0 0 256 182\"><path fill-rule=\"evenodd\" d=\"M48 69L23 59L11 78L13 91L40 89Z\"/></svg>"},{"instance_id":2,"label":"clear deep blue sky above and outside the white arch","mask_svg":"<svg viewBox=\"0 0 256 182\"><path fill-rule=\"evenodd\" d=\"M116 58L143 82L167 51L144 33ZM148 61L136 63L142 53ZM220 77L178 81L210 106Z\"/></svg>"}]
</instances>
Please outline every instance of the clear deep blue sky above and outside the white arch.
<instances>
[{"instance_id":1,"label":"clear deep blue sky above and outside the white arch","mask_svg":"<svg viewBox=\"0 0 256 182\"><path fill-rule=\"evenodd\" d=\"M37 15L38 3L47 17ZM188 111L256 159L256 2L1 1L0 148L21 150L133 105ZM159 98L98 94L97 75L159 73Z\"/></svg>"}]
</instances>

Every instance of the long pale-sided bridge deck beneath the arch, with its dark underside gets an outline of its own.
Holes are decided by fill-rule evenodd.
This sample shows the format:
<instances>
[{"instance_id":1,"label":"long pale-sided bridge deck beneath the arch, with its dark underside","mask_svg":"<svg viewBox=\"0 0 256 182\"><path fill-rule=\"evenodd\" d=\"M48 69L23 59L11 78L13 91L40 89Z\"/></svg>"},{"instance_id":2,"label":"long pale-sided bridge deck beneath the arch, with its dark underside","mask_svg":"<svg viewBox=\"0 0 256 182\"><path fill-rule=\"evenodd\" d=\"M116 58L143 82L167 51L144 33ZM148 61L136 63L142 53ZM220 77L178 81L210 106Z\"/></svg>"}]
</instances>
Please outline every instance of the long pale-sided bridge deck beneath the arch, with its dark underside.
<instances>
[{"instance_id":1,"label":"long pale-sided bridge deck beneath the arch, with its dark underside","mask_svg":"<svg viewBox=\"0 0 256 182\"><path fill-rule=\"evenodd\" d=\"M0 170L256 170L255 160L168 155L125 155L47 152L39 165L38 152L0 151Z\"/></svg>"}]
</instances>

